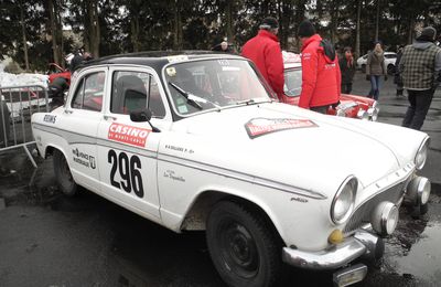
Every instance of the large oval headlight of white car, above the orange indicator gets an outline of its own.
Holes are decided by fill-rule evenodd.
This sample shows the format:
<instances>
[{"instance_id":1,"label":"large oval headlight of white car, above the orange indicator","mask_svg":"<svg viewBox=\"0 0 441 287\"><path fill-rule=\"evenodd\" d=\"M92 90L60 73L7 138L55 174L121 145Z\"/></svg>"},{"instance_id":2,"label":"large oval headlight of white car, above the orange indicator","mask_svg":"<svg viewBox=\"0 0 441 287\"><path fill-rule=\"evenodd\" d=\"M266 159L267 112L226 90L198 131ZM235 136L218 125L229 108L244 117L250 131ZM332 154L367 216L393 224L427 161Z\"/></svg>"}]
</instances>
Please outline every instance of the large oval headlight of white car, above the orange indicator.
<instances>
[{"instance_id":1,"label":"large oval headlight of white car, above the orange indicator","mask_svg":"<svg viewBox=\"0 0 441 287\"><path fill-rule=\"evenodd\" d=\"M345 222L354 210L358 180L351 176L343 181L331 205L331 220L335 224Z\"/></svg>"}]
</instances>

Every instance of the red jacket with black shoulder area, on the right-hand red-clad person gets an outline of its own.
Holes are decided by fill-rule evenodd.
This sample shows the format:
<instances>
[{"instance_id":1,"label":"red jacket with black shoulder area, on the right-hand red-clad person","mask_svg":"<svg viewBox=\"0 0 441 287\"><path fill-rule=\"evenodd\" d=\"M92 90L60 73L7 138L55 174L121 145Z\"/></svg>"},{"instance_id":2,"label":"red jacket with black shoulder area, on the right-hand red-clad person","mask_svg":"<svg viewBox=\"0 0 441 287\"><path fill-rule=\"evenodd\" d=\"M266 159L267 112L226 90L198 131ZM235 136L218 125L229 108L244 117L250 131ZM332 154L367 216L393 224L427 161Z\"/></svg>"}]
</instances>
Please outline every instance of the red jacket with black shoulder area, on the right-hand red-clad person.
<instances>
[{"instance_id":1,"label":"red jacket with black shoulder area, on the right-hand red-clad person","mask_svg":"<svg viewBox=\"0 0 441 287\"><path fill-rule=\"evenodd\" d=\"M325 55L322 38L314 34L302 45L302 93L299 107L310 108L338 103L342 77L338 57Z\"/></svg>"}]
</instances>

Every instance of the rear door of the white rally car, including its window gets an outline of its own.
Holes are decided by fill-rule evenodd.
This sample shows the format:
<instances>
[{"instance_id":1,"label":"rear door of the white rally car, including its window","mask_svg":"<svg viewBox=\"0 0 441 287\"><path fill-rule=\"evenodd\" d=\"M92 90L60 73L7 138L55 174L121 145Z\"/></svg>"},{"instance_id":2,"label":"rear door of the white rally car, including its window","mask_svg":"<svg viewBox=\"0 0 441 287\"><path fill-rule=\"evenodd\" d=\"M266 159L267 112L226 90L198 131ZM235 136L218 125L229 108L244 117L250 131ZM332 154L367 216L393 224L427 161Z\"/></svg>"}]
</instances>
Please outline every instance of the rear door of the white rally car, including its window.
<instances>
[{"instance_id":1,"label":"rear door of the white rally car, including its window","mask_svg":"<svg viewBox=\"0 0 441 287\"><path fill-rule=\"evenodd\" d=\"M63 116L57 118L63 121L65 156L73 177L93 191L99 189L96 135L103 118L106 73L105 67L83 71L72 87Z\"/></svg>"}]
</instances>

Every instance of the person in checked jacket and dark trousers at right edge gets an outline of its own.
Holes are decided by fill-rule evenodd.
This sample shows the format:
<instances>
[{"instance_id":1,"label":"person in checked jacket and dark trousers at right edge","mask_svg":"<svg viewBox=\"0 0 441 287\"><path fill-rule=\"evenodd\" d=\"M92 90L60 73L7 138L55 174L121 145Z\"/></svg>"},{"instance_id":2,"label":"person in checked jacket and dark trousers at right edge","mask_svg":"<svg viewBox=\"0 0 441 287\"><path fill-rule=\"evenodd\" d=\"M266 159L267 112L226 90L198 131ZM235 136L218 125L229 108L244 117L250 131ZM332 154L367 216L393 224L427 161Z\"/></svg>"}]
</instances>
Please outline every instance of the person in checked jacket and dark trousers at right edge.
<instances>
[{"instance_id":1,"label":"person in checked jacket and dark trousers at right edge","mask_svg":"<svg viewBox=\"0 0 441 287\"><path fill-rule=\"evenodd\" d=\"M433 43L435 36L437 30L427 26L413 44L402 51L399 73L410 104L402 120L404 127L421 129L441 82L441 49Z\"/></svg>"}]
</instances>

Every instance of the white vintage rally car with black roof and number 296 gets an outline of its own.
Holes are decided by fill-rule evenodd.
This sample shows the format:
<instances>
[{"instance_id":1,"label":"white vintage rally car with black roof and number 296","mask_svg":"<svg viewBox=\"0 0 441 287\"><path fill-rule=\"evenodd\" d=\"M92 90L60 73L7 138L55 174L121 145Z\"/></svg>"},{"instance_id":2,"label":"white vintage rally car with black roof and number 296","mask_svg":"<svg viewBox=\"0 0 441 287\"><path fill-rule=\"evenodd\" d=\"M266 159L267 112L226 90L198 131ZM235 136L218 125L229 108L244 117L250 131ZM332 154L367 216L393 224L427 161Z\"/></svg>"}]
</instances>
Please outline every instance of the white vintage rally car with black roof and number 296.
<instances>
[{"instance_id":1,"label":"white vintage rally car with black roof and number 296","mask_svg":"<svg viewBox=\"0 0 441 287\"><path fill-rule=\"evenodd\" d=\"M65 194L82 185L174 232L205 230L230 286L269 286L282 262L359 281L367 267L351 263L381 256L398 209L426 211L429 137L272 95L240 56L118 55L76 72L32 128Z\"/></svg>"}]
</instances>

